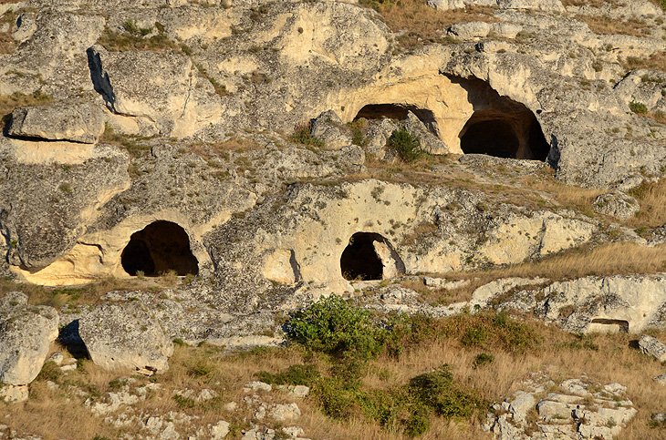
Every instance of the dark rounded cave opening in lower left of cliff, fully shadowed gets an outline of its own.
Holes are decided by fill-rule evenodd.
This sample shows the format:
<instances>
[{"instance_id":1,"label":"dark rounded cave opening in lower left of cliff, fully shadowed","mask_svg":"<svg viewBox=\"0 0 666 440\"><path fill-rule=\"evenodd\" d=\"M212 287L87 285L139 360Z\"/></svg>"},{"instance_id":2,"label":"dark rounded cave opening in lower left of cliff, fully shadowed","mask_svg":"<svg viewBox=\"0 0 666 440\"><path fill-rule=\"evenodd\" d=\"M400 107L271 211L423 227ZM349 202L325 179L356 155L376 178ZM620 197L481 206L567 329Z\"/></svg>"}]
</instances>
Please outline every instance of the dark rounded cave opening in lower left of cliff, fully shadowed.
<instances>
[{"instance_id":1,"label":"dark rounded cave opening in lower left of cliff, fully shadowed","mask_svg":"<svg viewBox=\"0 0 666 440\"><path fill-rule=\"evenodd\" d=\"M199 273L199 261L190 250L187 232L172 221L158 220L134 232L120 256L122 268L132 276L141 271L155 277L167 271L183 276Z\"/></svg>"}]
</instances>

